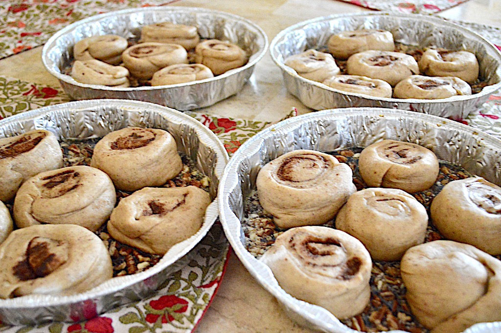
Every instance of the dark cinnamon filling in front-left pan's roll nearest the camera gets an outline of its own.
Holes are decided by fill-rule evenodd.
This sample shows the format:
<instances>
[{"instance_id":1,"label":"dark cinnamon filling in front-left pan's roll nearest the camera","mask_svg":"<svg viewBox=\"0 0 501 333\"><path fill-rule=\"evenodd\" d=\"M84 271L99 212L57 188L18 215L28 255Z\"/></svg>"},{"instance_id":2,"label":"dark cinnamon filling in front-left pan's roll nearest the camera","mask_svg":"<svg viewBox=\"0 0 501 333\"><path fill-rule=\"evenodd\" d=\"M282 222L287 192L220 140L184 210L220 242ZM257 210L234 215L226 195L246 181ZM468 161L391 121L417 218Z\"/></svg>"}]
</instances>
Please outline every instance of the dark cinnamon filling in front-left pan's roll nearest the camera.
<instances>
[{"instance_id":1,"label":"dark cinnamon filling in front-left pan's roll nearest the camera","mask_svg":"<svg viewBox=\"0 0 501 333\"><path fill-rule=\"evenodd\" d=\"M21 281L45 277L68 260L68 242L35 237L26 249L26 258L13 267Z\"/></svg>"}]
</instances>

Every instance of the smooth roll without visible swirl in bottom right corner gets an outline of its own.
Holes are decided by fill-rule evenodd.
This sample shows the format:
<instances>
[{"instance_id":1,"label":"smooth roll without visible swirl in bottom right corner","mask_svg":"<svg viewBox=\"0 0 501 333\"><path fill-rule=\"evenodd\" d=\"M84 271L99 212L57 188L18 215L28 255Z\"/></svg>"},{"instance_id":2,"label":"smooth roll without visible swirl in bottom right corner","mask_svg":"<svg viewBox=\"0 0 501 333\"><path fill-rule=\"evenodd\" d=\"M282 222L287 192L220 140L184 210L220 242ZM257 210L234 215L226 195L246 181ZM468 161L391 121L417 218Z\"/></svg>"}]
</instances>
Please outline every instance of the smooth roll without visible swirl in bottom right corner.
<instances>
[{"instance_id":1,"label":"smooth roll without visible swirl in bottom right corner","mask_svg":"<svg viewBox=\"0 0 501 333\"><path fill-rule=\"evenodd\" d=\"M436 240L400 263L412 313L431 333L459 333L501 320L501 261L474 246Z\"/></svg>"}]
</instances>

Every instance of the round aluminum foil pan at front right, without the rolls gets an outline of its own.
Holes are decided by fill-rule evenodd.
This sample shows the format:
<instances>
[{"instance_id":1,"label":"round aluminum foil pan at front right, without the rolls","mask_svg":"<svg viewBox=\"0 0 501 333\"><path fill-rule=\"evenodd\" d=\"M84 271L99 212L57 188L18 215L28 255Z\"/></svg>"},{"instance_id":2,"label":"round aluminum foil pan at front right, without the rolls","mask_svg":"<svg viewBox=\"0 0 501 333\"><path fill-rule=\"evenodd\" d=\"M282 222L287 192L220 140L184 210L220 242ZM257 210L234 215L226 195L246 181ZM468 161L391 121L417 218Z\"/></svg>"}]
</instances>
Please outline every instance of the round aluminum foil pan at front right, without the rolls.
<instances>
[{"instance_id":1,"label":"round aluminum foil pan at front right, without the rolls","mask_svg":"<svg viewBox=\"0 0 501 333\"><path fill-rule=\"evenodd\" d=\"M383 139L418 143L433 150L439 159L501 184L501 140L452 120L382 108L324 110L284 120L247 140L224 170L218 197L219 218L226 237L250 274L284 305L294 320L308 327L331 333L356 332L326 309L286 293L270 268L245 249L240 224L243 202L256 189L261 167L289 151L366 147ZM477 324L465 333L499 331L501 322Z\"/></svg>"}]
</instances>

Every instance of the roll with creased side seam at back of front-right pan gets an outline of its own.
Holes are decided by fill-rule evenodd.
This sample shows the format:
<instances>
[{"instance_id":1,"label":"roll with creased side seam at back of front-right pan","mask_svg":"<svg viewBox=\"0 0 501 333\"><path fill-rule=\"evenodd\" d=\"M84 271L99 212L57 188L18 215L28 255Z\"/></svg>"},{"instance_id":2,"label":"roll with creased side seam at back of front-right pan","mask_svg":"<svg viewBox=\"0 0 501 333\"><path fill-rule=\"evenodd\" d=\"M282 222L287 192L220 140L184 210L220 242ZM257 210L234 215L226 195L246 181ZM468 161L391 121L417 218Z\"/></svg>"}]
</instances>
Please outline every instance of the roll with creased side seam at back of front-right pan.
<instances>
[{"instance_id":1,"label":"roll with creased side seam at back of front-right pan","mask_svg":"<svg viewBox=\"0 0 501 333\"><path fill-rule=\"evenodd\" d=\"M368 146L358 160L360 175L371 187L414 193L430 188L438 176L435 154L415 143L383 140Z\"/></svg>"}]
</instances>

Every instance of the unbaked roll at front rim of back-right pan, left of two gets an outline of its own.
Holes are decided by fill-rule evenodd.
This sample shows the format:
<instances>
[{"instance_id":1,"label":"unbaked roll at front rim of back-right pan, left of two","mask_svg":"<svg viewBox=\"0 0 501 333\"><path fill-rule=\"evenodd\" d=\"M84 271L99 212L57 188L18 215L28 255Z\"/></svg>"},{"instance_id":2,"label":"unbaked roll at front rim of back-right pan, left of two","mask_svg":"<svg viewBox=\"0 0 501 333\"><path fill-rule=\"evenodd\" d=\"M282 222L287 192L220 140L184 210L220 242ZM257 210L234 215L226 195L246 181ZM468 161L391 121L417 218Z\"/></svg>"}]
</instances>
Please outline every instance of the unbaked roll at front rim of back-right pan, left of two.
<instances>
[{"instance_id":1,"label":"unbaked roll at front rim of back-right pan, left of two","mask_svg":"<svg viewBox=\"0 0 501 333\"><path fill-rule=\"evenodd\" d=\"M383 80L371 79L358 75L335 75L324 82L324 85L348 93L364 94L374 97L391 97L391 86Z\"/></svg>"}]
</instances>

